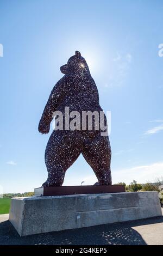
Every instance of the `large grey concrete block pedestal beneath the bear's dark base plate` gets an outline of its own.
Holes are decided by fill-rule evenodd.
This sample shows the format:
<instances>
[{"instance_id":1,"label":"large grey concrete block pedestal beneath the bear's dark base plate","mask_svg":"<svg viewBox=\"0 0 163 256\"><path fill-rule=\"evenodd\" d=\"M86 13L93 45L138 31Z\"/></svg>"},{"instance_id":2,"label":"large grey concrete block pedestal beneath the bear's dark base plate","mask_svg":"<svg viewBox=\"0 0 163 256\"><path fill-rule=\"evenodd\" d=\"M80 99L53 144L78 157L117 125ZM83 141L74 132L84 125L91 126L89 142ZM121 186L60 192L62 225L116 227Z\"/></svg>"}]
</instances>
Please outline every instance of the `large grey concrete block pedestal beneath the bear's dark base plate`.
<instances>
[{"instance_id":1,"label":"large grey concrete block pedestal beneath the bear's dark base plate","mask_svg":"<svg viewBox=\"0 0 163 256\"><path fill-rule=\"evenodd\" d=\"M9 221L24 236L161 215L150 191L12 198Z\"/></svg>"}]
</instances>

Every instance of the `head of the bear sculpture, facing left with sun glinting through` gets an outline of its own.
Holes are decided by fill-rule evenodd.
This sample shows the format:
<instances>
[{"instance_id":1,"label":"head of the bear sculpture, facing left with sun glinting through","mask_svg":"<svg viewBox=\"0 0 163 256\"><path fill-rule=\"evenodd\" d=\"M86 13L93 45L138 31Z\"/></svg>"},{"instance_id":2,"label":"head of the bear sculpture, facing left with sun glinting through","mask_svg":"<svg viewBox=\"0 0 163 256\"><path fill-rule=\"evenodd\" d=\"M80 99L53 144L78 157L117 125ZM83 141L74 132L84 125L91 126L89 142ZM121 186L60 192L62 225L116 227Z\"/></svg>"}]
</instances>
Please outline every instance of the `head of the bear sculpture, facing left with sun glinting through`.
<instances>
[{"instance_id":1,"label":"head of the bear sculpture, facing left with sun glinting through","mask_svg":"<svg viewBox=\"0 0 163 256\"><path fill-rule=\"evenodd\" d=\"M60 71L65 75L90 75L89 67L78 51L68 59L67 64L60 67Z\"/></svg>"}]
</instances>

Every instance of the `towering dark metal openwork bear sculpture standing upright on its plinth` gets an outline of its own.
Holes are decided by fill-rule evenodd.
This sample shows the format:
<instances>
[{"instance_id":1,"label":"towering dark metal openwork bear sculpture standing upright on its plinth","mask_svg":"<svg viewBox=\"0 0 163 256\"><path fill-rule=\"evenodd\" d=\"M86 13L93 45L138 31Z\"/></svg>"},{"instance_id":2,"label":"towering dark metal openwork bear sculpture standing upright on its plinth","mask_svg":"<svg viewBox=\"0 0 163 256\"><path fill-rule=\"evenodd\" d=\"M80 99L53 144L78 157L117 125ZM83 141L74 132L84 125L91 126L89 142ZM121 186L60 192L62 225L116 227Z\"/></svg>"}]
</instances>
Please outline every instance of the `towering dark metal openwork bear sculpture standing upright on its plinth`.
<instances>
[{"instance_id":1,"label":"towering dark metal openwork bear sculpture standing upright on its plinth","mask_svg":"<svg viewBox=\"0 0 163 256\"><path fill-rule=\"evenodd\" d=\"M80 114L83 111L103 112L99 105L95 81L80 52L76 51L60 70L65 75L55 84L49 96L39 123L40 133L49 132L55 111L60 111L65 116L65 107ZM104 119L106 124L105 115ZM109 137L101 136L101 129L95 129L94 119L92 123L94 128L92 130L89 130L88 126L86 130L66 130L64 123L63 130L52 132L45 151L48 179L42 184L43 187L61 186L66 170L77 160L80 153L95 172L98 179L95 185L111 184Z\"/></svg>"}]
</instances>

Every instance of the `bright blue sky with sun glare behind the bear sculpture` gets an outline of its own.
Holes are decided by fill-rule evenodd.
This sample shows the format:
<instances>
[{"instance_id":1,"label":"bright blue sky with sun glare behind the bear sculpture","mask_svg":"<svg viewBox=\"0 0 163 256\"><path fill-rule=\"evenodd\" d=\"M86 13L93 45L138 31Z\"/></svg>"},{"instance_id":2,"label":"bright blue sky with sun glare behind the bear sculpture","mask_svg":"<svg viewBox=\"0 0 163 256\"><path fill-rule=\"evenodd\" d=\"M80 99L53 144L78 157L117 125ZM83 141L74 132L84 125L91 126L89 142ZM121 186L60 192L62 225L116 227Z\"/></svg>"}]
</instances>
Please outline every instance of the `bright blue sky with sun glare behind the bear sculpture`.
<instances>
[{"instance_id":1,"label":"bright blue sky with sun glare behind the bear sculpture","mask_svg":"<svg viewBox=\"0 0 163 256\"><path fill-rule=\"evenodd\" d=\"M60 66L76 50L90 66L104 111L111 111L112 181L163 175L163 2L160 0L0 2L0 185L33 191L47 178L49 135L37 131ZM93 184L82 156L65 185Z\"/></svg>"}]
</instances>

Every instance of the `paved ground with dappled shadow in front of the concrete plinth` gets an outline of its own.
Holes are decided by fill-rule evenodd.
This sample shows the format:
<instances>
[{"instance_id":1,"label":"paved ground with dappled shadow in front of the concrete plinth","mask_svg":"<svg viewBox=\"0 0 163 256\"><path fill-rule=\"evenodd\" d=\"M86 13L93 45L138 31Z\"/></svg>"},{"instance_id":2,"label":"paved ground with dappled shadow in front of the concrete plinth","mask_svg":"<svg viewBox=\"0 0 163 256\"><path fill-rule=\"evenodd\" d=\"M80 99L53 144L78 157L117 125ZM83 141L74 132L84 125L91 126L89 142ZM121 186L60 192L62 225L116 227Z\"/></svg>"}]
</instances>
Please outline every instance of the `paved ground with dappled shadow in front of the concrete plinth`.
<instances>
[{"instance_id":1,"label":"paved ground with dappled shadow in front of the concrete plinth","mask_svg":"<svg viewBox=\"0 0 163 256\"><path fill-rule=\"evenodd\" d=\"M163 209L162 209L163 212ZM0 215L0 245L163 245L163 216L20 237Z\"/></svg>"}]
</instances>

